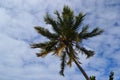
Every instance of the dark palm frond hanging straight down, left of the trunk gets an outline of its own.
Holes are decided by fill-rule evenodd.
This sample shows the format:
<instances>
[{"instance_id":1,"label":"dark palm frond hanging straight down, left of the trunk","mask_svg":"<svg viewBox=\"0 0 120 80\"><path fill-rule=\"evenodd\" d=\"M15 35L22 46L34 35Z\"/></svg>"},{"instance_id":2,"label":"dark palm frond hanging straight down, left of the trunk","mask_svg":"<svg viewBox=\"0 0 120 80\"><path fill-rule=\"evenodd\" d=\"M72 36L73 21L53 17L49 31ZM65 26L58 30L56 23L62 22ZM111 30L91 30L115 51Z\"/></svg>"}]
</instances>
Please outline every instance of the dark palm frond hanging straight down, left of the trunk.
<instances>
[{"instance_id":1,"label":"dark palm frond hanging straight down, left of the trunk","mask_svg":"<svg viewBox=\"0 0 120 80\"><path fill-rule=\"evenodd\" d=\"M61 56L61 70L60 70L60 75L64 76L64 69L66 66L66 53L63 52L62 56Z\"/></svg>"}]
</instances>

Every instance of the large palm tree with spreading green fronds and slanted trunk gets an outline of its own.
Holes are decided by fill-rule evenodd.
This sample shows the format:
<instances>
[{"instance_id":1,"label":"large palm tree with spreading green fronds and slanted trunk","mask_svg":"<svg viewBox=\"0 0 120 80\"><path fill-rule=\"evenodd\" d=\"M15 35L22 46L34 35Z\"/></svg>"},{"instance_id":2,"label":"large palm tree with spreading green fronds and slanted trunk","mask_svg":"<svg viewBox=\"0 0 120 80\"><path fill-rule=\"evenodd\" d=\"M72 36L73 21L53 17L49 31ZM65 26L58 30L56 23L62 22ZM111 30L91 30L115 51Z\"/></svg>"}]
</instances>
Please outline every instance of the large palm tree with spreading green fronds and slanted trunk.
<instances>
[{"instance_id":1,"label":"large palm tree with spreading green fronds and slanted trunk","mask_svg":"<svg viewBox=\"0 0 120 80\"><path fill-rule=\"evenodd\" d=\"M74 62L86 80L90 80L81 67L78 55L82 53L89 58L94 55L94 51L87 50L85 47L80 46L80 43L82 43L84 39L101 34L103 30L95 28L92 31L88 31L88 25L82 27L81 24L85 14L79 13L75 16L74 12L68 6L64 6L62 14L56 10L55 15L56 17L53 18L47 13L44 17L46 24L52 26L53 33L41 26L35 26L35 30L42 36L48 38L48 41L43 43L33 43L31 47L41 49L41 51L37 53L38 57L45 57L51 52L54 55L59 56L61 59L60 75L64 76L65 66L72 66L72 62Z\"/></svg>"}]
</instances>

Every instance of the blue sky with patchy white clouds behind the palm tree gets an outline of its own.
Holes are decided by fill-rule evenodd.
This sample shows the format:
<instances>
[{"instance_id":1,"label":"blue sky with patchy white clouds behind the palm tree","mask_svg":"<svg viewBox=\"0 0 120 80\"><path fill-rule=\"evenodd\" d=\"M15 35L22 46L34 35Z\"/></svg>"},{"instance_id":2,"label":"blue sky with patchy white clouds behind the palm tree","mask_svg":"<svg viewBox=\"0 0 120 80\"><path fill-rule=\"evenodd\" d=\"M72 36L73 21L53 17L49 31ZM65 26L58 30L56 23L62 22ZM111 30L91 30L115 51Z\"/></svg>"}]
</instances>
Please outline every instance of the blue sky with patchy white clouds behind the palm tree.
<instances>
[{"instance_id":1,"label":"blue sky with patchy white clouds behind the palm tree","mask_svg":"<svg viewBox=\"0 0 120 80\"><path fill-rule=\"evenodd\" d=\"M39 50L29 46L45 40L33 27L51 29L43 20L45 13L53 15L64 5L75 14L86 13L84 23L91 29L99 26L105 31L84 41L96 51L90 59L80 58L87 74L108 80L114 71L115 80L120 80L120 0L0 0L0 80L85 80L75 65L66 67L65 77L61 77L59 58L37 58Z\"/></svg>"}]
</instances>

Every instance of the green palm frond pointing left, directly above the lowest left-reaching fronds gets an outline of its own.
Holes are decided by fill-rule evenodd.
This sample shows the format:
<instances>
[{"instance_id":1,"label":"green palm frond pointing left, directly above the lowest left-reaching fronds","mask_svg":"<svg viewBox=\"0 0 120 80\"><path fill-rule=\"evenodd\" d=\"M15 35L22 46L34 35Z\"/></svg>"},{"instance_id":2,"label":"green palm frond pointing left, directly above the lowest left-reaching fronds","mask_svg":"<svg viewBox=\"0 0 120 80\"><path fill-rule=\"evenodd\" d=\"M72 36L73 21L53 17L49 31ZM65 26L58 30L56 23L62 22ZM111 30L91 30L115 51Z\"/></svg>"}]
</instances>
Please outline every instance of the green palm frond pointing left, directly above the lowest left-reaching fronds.
<instances>
[{"instance_id":1,"label":"green palm frond pointing left, directly above the lowest left-reaching fronds","mask_svg":"<svg viewBox=\"0 0 120 80\"><path fill-rule=\"evenodd\" d=\"M56 39L58 38L58 35L55 33L51 33L49 32L49 30L40 27L40 26L36 26L35 30L37 30L38 33L40 33L42 36L47 37L48 39Z\"/></svg>"}]
</instances>

